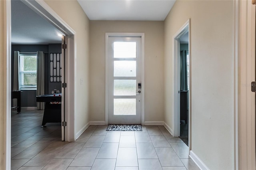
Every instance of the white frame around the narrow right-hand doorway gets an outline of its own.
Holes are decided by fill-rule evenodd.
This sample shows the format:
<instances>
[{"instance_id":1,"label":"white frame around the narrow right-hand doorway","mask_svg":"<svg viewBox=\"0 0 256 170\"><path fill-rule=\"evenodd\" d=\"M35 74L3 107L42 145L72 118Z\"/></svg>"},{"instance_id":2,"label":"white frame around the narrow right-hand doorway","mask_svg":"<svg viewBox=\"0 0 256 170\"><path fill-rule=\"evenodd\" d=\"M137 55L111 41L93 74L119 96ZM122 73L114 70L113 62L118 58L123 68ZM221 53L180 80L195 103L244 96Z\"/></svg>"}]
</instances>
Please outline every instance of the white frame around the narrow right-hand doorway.
<instances>
[{"instance_id":1,"label":"white frame around the narrow right-hand doorway","mask_svg":"<svg viewBox=\"0 0 256 170\"><path fill-rule=\"evenodd\" d=\"M174 89L173 89L173 136L178 137L180 134L180 38L188 33L188 51L190 58L190 19L174 34L173 36L173 73L174 73ZM191 141L191 59L189 60L189 91L188 91L188 145L190 146Z\"/></svg>"}]
</instances>

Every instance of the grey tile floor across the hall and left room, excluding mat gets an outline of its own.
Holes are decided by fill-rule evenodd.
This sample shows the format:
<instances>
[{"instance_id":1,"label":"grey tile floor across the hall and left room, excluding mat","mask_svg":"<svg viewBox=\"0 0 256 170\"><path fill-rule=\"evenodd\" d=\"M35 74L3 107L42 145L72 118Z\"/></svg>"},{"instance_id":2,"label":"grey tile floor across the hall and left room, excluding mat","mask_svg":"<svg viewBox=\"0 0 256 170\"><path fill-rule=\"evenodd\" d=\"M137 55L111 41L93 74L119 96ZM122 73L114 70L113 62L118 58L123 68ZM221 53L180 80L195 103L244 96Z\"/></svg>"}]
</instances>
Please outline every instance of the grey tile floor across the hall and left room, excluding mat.
<instances>
[{"instance_id":1,"label":"grey tile floor across the hall and left room, excluding mat","mask_svg":"<svg viewBox=\"0 0 256 170\"><path fill-rule=\"evenodd\" d=\"M164 126L106 131L90 126L74 142L61 141L60 123L40 128L42 111L12 111L12 170L198 170L188 146Z\"/></svg>"}]
</instances>

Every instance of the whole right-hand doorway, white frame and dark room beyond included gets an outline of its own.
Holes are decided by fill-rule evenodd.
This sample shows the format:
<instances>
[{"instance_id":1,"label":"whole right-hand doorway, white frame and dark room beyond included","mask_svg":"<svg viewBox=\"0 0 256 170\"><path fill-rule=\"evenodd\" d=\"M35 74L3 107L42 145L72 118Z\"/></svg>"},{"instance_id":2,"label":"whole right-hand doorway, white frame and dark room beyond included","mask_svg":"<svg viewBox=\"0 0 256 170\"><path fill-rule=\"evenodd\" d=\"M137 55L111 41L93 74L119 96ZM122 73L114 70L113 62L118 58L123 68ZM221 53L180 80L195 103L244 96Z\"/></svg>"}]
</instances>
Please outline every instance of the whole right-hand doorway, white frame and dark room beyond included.
<instances>
[{"instance_id":1,"label":"whole right-hand doorway, white frame and dark room beyond included","mask_svg":"<svg viewBox=\"0 0 256 170\"><path fill-rule=\"evenodd\" d=\"M175 34L174 42L174 136L190 141L190 20ZM190 146L189 146L190 147Z\"/></svg>"}]
</instances>

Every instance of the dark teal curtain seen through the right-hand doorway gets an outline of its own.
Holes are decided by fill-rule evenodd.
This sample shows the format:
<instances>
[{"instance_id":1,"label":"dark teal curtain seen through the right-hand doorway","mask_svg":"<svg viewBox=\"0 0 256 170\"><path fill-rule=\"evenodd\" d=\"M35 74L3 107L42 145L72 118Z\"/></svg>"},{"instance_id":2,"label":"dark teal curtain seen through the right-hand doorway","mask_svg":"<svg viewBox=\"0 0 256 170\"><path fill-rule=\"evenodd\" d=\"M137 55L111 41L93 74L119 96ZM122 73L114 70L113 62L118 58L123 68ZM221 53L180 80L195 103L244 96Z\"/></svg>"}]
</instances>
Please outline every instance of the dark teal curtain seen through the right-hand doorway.
<instances>
[{"instance_id":1,"label":"dark teal curtain seen through the right-hand doorway","mask_svg":"<svg viewBox=\"0 0 256 170\"><path fill-rule=\"evenodd\" d=\"M188 90L187 51L180 51L180 90Z\"/></svg>"}]
</instances>

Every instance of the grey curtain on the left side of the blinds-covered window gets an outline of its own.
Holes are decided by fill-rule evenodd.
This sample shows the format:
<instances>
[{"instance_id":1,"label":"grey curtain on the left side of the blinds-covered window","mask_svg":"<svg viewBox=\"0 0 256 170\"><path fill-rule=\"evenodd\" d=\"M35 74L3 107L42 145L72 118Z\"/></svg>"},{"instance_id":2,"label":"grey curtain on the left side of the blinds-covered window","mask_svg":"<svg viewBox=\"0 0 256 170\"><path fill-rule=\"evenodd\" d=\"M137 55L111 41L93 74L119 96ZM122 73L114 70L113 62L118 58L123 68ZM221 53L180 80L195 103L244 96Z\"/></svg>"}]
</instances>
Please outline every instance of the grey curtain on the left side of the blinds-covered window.
<instances>
[{"instance_id":1,"label":"grey curtain on the left side of the blinds-covered window","mask_svg":"<svg viewBox=\"0 0 256 170\"><path fill-rule=\"evenodd\" d=\"M20 90L20 52L14 51L14 65L13 65L13 91ZM17 99L12 99L12 107L17 107ZM16 108L17 109L17 108Z\"/></svg>"}]
</instances>

